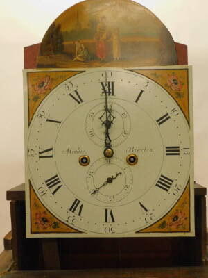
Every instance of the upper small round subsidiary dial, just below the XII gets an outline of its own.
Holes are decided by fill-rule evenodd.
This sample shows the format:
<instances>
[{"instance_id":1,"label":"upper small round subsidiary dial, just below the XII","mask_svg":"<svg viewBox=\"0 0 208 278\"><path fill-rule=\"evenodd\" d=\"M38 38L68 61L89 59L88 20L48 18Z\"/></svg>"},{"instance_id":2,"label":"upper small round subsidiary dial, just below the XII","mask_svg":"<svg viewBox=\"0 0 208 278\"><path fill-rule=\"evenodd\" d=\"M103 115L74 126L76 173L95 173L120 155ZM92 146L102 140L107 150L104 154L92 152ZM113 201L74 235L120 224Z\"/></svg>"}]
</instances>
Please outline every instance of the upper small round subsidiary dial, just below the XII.
<instances>
[{"instance_id":1,"label":"upper small round subsidiary dial, just below the XII","mask_svg":"<svg viewBox=\"0 0 208 278\"><path fill-rule=\"evenodd\" d=\"M128 112L120 104L116 104L114 101L110 101L108 104L107 123L109 126L110 145L116 147L121 145L130 134L130 116ZM106 141L109 140L106 137L106 119L105 119L105 102L94 106L85 120L85 130L87 136L96 145L104 147Z\"/></svg>"}]
</instances>

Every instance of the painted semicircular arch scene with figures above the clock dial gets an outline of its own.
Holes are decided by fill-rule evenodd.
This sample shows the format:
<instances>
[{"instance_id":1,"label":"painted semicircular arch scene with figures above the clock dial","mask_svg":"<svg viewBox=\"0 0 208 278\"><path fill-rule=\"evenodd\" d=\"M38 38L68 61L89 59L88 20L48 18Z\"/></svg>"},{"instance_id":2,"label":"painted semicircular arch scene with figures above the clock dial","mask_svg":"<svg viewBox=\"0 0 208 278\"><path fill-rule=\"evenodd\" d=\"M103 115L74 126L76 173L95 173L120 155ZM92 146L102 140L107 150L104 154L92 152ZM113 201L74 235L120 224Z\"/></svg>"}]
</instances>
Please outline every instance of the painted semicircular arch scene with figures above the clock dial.
<instances>
[{"instance_id":1,"label":"painted semicircular arch scene with figures above the clock dial","mask_svg":"<svg viewBox=\"0 0 208 278\"><path fill-rule=\"evenodd\" d=\"M175 65L175 43L144 6L86 0L64 11L44 35L37 67Z\"/></svg>"}]
</instances>

